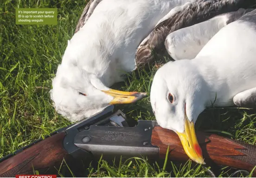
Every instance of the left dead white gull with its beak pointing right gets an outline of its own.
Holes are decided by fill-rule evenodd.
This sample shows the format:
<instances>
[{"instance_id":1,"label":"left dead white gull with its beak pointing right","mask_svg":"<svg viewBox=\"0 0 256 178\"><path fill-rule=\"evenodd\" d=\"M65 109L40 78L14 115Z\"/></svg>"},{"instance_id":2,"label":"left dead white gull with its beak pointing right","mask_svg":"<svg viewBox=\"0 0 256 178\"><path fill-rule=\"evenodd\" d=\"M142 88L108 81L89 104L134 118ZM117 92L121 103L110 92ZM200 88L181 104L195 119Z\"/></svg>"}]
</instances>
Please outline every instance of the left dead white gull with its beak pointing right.
<instances>
[{"instance_id":1,"label":"left dead white gull with its beak pointing right","mask_svg":"<svg viewBox=\"0 0 256 178\"><path fill-rule=\"evenodd\" d=\"M109 104L128 104L144 97L146 93L109 87L136 68L136 49L160 19L189 1L90 1L52 81L55 110L70 121L79 121Z\"/></svg>"}]
</instances>

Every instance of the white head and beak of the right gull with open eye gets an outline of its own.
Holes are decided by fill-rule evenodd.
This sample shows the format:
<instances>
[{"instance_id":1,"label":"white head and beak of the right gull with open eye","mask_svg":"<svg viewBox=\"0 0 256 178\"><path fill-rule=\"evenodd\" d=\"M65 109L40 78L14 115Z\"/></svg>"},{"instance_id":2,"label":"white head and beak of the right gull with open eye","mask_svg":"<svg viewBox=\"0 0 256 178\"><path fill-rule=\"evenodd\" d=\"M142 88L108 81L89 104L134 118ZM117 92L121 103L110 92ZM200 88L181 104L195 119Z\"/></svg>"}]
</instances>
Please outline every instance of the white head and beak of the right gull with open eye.
<instances>
[{"instance_id":1,"label":"white head and beak of the right gull with open eye","mask_svg":"<svg viewBox=\"0 0 256 178\"><path fill-rule=\"evenodd\" d=\"M205 164L194 124L205 110L205 80L191 60L170 61L154 75L150 102L157 123L179 135L186 154Z\"/></svg>"}]
</instances>

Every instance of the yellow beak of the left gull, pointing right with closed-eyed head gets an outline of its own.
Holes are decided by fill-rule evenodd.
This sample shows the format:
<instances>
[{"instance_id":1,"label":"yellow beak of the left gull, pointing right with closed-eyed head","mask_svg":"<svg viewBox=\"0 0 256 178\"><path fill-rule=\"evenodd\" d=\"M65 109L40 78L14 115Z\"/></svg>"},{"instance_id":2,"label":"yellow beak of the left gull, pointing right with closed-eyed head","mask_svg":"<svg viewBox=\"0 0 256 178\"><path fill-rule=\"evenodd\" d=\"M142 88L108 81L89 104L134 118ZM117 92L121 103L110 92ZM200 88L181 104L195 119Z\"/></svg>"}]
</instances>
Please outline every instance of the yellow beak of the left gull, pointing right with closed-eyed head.
<instances>
[{"instance_id":1,"label":"yellow beak of the left gull, pointing right with closed-eyed head","mask_svg":"<svg viewBox=\"0 0 256 178\"><path fill-rule=\"evenodd\" d=\"M108 91L102 91L108 95L114 97L114 99L109 104L129 104L134 103L141 98L147 96L147 93L139 92L122 92L118 90L109 89Z\"/></svg>"}]
</instances>

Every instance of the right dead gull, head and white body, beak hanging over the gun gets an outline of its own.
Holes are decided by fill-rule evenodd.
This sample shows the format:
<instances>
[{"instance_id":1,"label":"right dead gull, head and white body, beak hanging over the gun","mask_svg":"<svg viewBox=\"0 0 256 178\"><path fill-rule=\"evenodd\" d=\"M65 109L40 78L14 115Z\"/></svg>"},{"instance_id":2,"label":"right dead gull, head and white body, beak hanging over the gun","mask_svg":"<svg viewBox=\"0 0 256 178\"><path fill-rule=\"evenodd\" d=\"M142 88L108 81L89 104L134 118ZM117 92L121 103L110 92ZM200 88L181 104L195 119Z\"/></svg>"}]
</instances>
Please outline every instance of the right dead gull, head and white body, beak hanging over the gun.
<instances>
[{"instance_id":1,"label":"right dead gull, head and white body, beak hanging over the gun","mask_svg":"<svg viewBox=\"0 0 256 178\"><path fill-rule=\"evenodd\" d=\"M154 75L150 102L157 123L179 135L204 164L194 123L208 107L256 108L256 9L224 26L194 59L169 61Z\"/></svg>"}]
</instances>

